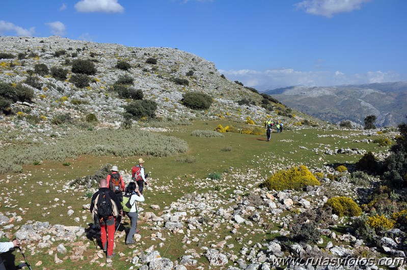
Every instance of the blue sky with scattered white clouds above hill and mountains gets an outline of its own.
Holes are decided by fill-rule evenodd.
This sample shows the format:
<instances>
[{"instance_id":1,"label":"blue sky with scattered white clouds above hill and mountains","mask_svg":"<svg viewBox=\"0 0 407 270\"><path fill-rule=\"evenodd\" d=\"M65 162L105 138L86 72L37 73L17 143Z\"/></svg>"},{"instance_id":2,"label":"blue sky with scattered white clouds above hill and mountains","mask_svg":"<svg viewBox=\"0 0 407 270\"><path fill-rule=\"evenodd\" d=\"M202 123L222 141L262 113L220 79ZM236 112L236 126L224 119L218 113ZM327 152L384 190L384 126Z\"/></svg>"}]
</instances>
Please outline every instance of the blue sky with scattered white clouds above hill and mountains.
<instances>
[{"instance_id":1,"label":"blue sky with scattered white clouds above hill and mountains","mask_svg":"<svg viewBox=\"0 0 407 270\"><path fill-rule=\"evenodd\" d=\"M405 11L404 0L8 0L0 35L178 48L265 90L407 80Z\"/></svg>"}]
</instances>

